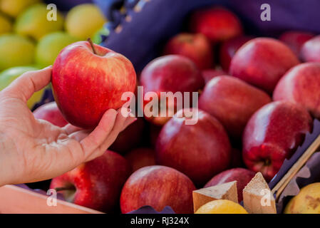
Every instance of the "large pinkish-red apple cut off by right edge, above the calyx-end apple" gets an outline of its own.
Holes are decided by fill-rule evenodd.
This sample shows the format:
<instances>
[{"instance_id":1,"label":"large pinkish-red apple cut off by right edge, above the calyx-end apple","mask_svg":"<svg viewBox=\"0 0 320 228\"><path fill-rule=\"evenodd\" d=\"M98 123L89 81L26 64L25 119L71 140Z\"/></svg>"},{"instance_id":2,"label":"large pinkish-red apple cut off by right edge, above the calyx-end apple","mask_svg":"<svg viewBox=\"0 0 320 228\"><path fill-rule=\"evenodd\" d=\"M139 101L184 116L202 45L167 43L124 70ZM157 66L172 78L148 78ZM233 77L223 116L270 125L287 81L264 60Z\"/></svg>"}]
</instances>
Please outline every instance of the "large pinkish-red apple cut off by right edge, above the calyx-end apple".
<instances>
[{"instance_id":1,"label":"large pinkish-red apple cut off by right edge, above the calyx-end apple","mask_svg":"<svg viewBox=\"0 0 320 228\"><path fill-rule=\"evenodd\" d=\"M298 103L320 118L320 63L302 63L292 68L277 84L273 98Z\"/></svg>"}]
</instances>

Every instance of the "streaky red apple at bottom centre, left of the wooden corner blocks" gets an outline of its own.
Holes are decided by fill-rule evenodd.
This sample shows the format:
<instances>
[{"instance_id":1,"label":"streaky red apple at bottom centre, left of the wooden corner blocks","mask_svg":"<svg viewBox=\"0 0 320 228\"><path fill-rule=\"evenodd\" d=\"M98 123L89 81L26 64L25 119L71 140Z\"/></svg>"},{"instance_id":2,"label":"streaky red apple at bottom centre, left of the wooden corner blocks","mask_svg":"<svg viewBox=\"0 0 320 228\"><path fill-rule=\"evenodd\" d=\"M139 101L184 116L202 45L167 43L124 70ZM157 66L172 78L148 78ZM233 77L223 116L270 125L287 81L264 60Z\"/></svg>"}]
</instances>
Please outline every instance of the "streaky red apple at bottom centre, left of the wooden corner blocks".
<instances>
[{"instance_id":1,"label":"streaky red apple at bottom centre, left of the wooden corner blocks","mask_svg":"<svg viewBox=\"0 0 320 228\"><path fill-rule=\"evenodd\" d=\"M123 214L145 205L158 212L170 206L178 214L193 212L192 181L181 172L170 167L153 165L137 170L129 177L120 197Z\"/></svg>"}]
</instances>

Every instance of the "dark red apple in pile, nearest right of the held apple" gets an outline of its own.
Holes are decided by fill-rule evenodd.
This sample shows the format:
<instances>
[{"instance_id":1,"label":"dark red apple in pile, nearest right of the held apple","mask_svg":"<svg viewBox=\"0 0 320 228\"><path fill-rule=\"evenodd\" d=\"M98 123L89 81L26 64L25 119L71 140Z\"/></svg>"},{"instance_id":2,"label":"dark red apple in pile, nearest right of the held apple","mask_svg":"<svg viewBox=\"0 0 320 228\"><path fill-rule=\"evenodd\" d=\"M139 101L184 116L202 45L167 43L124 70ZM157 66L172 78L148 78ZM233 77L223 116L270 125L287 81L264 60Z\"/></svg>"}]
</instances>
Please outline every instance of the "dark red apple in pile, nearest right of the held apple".
<instances>
[{"instance_id":1,"label":"dark red apple in pile, nearest right of the held apple","mask_svg":"<svg viewBox=\"0 0 320 228\"><path fill-rule=\"evenodd\" d=\"M140 84L143 86L143 94L154 92L160 98L160 92L197 92L205 86L205 81L202 78L200 71L189 58L178 55L169 55L155 58L155 60L148 63L143 69L140 77ZM144 100L144 107L147 103L153 102L152 99ZM160 103L160 102L159 102ZM192 101L190 100L190 105ZM174 103L166 104L167 110L169 108L176 108L177 100ZM152 115L148 117L145 113L145 118L155 125L164 125L170 116L160 117L159 115Z\"/></svg>"}]
</instances>

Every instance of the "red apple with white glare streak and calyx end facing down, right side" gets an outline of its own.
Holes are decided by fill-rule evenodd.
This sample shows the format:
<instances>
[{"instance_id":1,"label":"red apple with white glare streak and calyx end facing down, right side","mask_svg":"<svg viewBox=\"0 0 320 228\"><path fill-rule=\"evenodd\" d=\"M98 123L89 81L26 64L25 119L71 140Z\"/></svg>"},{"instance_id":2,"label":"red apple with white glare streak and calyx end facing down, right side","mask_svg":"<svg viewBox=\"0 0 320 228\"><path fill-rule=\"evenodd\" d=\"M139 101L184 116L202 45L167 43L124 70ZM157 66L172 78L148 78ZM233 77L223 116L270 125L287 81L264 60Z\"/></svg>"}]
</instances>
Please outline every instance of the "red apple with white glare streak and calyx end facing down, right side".
<instances>
[{"instance_id":1,"label":"red apple with white glare streak and calyx end facing down, right side","mask_svg":"<svg viewBox=\"0 0 320 228\"><path fill-rule=\"evenodd\" d=\"M272 180L311 126L311 116L300 105L285 101L264 105L252 115L244 130L244 163L250 170L262 172L267 181Z\"/></svg>"}]
</instances>

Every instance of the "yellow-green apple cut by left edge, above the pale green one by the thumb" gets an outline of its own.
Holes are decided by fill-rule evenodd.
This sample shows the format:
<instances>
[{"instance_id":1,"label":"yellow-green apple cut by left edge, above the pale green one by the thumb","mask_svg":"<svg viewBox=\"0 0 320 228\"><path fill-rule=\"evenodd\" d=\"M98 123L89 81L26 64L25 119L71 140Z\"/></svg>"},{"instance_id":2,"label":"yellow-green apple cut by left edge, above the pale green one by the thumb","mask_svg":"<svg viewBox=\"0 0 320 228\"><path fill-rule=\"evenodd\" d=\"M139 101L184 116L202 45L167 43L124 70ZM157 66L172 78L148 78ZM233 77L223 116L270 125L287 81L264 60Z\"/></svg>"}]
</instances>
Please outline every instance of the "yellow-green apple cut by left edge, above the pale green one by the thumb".
<instances>
[{"instance_id":1,"label":"yellow-green apple cut by left edge, above the pale green one by the thumb","mask_svg":"<svg viewBox=\"0 0 320 228\"><path fill-rule=\"evenodd\" d=\"M36 47L24 36L4 34L0 36L0 71L13 66L26 66L34 62Z\"/></svg>"}]
</instances>

